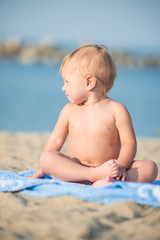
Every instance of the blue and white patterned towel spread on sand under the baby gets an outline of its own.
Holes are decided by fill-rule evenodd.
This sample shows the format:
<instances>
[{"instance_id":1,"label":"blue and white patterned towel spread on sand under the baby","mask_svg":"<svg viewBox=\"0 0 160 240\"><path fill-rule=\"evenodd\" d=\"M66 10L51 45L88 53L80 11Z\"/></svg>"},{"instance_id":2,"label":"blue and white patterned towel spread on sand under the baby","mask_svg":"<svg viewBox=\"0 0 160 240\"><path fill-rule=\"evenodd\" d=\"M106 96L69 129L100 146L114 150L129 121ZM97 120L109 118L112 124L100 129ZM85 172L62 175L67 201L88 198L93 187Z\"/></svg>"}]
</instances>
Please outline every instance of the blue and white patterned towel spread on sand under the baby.
<instances>
[{"instance_id":1,"label":"blue and white patterned towel spread on sand under the baby","mask_svg":"<svg viewBox=\"0 0 160 240\"><path fill-rule=\"evenodd\" d=\"M134 201L160 208L160 181L133 183L115 181L102 188L90 185L68 183L46 176L44 179L25 178L34 170L24 172L0 171L0 191L17 192L35 197L74 196L87 202L110 204L120 201Z\"/></svg>"}]
</instances>

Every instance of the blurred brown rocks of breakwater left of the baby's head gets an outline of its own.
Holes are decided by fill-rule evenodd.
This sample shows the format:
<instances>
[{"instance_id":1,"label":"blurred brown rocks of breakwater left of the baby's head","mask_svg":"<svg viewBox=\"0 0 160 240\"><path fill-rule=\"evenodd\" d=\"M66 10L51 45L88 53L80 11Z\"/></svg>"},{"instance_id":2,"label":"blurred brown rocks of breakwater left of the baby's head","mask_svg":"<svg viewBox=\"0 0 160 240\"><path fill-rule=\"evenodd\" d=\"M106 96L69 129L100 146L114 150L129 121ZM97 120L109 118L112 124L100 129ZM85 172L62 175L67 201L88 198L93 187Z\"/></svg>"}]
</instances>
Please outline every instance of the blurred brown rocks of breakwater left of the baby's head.
<instances>
[{"instance_id":1,"label":"blurred brown rocks of breakwater left of the baby's head","mask_svg":"<svg viewBox=\"0 0 160 240\"><path fill-rule=\"evenodd\" d=\"M18 60L25 64L33 62L54 64L66 53L66 50L59 49L50 42L25 43L18 39L0 41L0 58Z\"/></svg>"}]
</instances>

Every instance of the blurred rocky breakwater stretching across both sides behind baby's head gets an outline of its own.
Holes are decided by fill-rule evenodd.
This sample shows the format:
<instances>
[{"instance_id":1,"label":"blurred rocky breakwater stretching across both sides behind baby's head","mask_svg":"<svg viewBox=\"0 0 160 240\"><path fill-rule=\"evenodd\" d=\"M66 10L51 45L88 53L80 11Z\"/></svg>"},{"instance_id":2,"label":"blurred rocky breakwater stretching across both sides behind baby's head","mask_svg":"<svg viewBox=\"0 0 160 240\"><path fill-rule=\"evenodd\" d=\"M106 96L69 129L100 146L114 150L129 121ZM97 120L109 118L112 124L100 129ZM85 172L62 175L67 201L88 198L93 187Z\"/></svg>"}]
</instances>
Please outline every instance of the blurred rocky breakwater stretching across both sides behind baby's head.
<instances>
[{"instance_id":1,"label":"blurred rocky breakwater stretching across both sides behind baby's head","mask_svg":"<svg viewBox=\"0 0 160 240\"><path fill-rule=\"evenodd\" d=\"M52 41L25 42L21 39L0 39L0 59L16 60L23 64L60 62L72 49L61 47ZM133 54L129 50L110 51L116 65L129 69L160 69L160 55Z\"/></svg>"}]
</instances>

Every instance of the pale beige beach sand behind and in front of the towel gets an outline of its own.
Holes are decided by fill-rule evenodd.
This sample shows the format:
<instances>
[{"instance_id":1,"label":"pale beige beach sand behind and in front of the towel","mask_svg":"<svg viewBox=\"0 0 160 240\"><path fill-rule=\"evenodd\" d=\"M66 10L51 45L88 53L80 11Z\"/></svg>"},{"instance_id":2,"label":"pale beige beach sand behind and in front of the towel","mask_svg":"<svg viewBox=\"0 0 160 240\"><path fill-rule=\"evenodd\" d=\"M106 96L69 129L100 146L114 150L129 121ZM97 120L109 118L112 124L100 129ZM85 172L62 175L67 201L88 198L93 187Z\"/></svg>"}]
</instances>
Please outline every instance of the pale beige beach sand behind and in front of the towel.
<instances>
[{"instance_id":1,"label":"pale beige beach sand behind and in front of the towel","mask_svg":"<svg viewBox=\"0 0 160 240\"><path fill-rule=\"evenodd\" d=\"M36 169L48 136L0 132L0 170ZM136 158L152 159L160 169L160 139L138 139ZM0 193L0 239L158 240L160 209L129 201L103 205L70 196L37 198Z\"/></svg>"}]
</instances>

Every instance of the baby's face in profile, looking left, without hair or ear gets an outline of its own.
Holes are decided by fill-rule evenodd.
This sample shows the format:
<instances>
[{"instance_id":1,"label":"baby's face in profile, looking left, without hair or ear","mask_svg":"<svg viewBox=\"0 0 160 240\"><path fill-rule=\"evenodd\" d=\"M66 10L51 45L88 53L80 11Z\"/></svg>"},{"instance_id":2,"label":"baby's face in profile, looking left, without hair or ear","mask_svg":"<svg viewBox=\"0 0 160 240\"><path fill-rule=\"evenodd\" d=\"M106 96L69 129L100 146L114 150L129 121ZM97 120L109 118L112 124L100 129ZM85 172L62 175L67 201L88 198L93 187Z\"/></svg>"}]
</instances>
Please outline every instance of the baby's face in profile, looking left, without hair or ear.
<instances>
[{"instance_id":1,"label":"baby's face in profile, looking left, without hair or ear","mask_svg":"<svg viewBox=\"0 0 160 240\"><path fill-rule=\"evenodd\" d=\"M61 73L64 80L62 91L65 92L69 101L75 104L81 104L87 101L87 84L85 79L81 76L79 70L73 70L69 64L65 64Z\"/></svg>"}]
</instances>

